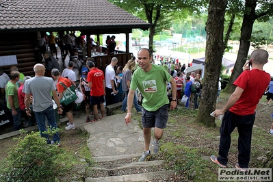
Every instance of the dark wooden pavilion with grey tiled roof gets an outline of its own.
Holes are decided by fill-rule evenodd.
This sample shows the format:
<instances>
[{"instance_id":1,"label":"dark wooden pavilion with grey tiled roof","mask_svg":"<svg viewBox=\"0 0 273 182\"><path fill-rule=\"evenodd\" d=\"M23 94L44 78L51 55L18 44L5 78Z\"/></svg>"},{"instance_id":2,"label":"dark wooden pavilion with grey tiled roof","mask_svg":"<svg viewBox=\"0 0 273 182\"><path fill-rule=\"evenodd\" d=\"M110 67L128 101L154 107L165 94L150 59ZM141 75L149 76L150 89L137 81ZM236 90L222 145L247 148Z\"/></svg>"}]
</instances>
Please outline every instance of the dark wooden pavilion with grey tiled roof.
<instances>
[{"instance_id":1,"label":"dark wooden pavilion with grey tiled roof","mask_svg":"<svg viewBox=\"0 0 273 182\"><path fill-rule=\"evenodd\" d=\"M148 29L150 24L118 8L107 0L2 0L0 2L0 68L10 73L16 64L25 75L34 75L39 62L36 51L37 32L81 31L87 37L88 57L91 57L90 35L120 34L126 36L126 51L94 56L103 68L112 57L125 66L131 59L129 33L132 29ZM14 60L14 56L16 60Z\"/></svg>"}]
</instances>

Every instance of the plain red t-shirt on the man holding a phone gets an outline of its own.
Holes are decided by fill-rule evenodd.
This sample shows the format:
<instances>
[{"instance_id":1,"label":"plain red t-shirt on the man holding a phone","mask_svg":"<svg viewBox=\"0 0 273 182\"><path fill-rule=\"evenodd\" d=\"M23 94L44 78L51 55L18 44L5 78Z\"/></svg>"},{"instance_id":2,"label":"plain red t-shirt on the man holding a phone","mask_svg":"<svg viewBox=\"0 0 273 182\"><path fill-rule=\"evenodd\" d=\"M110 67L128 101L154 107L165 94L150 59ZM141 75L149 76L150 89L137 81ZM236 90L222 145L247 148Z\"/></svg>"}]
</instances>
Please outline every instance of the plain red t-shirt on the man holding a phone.
<instances>
[{"instance_id":1,"label":"plain red t-shirt on the man holding a phone","mask_svg":"<svg viewBox=\"0 0 273 182\"><path fill-rule=\"evenodd\" d=\"M270 83L270 74L263 70L245 70L234 81L233 85L244 89L239 100L229 109L239 116L254 114L263 92Z\"/></svg>"}]
</instances>

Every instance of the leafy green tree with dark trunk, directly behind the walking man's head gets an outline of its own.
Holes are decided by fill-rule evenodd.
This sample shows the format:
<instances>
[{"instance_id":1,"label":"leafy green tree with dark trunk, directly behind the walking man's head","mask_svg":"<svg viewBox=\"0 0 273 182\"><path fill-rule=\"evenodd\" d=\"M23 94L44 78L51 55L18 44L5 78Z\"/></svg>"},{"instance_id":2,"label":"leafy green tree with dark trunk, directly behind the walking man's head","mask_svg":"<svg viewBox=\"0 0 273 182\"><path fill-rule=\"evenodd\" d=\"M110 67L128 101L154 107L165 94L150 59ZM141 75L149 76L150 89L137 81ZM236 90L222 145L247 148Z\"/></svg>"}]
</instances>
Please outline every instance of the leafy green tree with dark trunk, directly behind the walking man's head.
<instances>
[{"instance_id":1,"label":"leafy green tree with dark trunk, directly behind the walking man's head","mask_svg":"<svg viewBox=\"0 0 273 182\"><path fill-rule=\"evenodd\" d=\"M206 5L202 0L109 0L120 8L151 23L149 29L149 49L153 51L153 36L171 26L174 17L183 18L189 13L199 13Z\"/></svg>"}]
</instances>

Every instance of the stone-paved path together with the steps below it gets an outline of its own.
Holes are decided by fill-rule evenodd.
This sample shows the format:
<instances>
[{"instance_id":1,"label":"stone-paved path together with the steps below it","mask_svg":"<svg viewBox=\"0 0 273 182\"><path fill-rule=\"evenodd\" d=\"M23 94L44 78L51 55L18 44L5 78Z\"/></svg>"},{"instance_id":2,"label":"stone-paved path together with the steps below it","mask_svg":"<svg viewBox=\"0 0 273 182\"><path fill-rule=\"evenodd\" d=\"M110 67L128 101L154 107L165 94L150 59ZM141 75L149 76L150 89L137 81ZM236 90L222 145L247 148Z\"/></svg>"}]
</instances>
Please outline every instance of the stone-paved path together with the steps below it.
<instances>
[{"instance_id":1,"label":"stone-paved path together with the steps below it","mask_svg":"<svg viewBox=\"0 0 273 182\"><path fill-rule=\"evenodd\" d=\"M95 162L86 170L84 181L155 182L175 174L177 171L168 170L168 164L153 152L148 161L138 162L144 149L143 131L136 120L125 125L124 117L125 114L116 114L83 126L90 133L87 146ZM153 151L152 145L150 150Z\"/></svg>"}]
</instances>

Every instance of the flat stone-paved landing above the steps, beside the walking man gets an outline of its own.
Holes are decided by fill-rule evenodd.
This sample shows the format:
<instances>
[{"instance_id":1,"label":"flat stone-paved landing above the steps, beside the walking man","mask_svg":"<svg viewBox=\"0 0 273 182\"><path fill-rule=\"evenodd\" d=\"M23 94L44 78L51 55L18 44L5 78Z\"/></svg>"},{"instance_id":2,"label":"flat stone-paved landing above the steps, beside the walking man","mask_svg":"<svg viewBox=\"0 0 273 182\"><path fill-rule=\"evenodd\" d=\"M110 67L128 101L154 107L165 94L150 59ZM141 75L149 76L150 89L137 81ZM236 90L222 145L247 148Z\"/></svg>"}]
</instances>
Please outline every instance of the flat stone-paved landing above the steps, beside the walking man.
<instances>
[{"instance_id":1,"label":"flat stone-paved landing above the steps, beside the walking man","mask_svg":"<svg viewBox=\"0 0 273 182\"><path fill-rule=\"evenodd\" d=\"M138 121L125 124L125 114L107 116L84 129L90 133L88 148L92 157L141 155L144 150L143 131Z\"/></svg>"}]
</instances>

